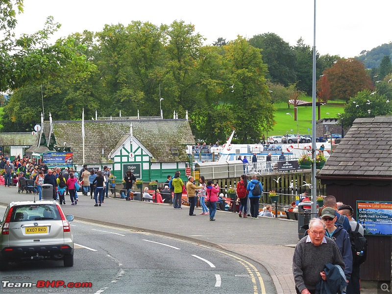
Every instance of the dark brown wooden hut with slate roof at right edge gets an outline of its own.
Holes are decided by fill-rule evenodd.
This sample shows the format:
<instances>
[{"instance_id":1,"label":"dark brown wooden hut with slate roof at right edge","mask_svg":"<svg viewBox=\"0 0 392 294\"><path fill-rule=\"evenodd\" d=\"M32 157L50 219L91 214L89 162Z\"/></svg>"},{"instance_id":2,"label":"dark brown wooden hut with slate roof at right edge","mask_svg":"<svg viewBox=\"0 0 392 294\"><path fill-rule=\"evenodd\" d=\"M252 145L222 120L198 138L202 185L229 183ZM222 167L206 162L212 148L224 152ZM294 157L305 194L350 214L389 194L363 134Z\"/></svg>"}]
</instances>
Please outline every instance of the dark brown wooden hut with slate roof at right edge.
<instances>
[{"instance_id":1,"label":"dark brown wooden hut with slate roof at right edge","mask_svg":"<svg viewBox=\"0 0 392 294\"><path fill-rule=\"evenodd\" d=\"M392 201L392 117L356 119L319 173L326 195L354 209L357 200ZM389 215L387 221L392 221ZM368 258L361 266L364 280L391 279L392 237L366 235Z\"/></svg>"}]
</instances>

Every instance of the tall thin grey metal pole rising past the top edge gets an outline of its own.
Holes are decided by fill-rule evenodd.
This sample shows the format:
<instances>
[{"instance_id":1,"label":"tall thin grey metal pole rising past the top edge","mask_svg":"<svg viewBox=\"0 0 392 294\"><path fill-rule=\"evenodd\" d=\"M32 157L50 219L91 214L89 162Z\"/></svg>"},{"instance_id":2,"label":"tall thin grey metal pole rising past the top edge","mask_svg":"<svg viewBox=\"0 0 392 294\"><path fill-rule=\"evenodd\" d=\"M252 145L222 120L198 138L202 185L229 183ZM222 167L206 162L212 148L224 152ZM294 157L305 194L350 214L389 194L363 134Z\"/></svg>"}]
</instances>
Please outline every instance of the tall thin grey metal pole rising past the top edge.
<instances>
[{"instance_id":1,"label":"tall thin grey metal pole rising past the top edge","mask_svg":"<svg viewBox=\"0 0 392 294\"><path fill-rule=\"evenodd\" d=\"M312 87L312 214L317 213L316 186L316 0L314 0L313 27L313 87Z\"/></svg>"}]
</instances>

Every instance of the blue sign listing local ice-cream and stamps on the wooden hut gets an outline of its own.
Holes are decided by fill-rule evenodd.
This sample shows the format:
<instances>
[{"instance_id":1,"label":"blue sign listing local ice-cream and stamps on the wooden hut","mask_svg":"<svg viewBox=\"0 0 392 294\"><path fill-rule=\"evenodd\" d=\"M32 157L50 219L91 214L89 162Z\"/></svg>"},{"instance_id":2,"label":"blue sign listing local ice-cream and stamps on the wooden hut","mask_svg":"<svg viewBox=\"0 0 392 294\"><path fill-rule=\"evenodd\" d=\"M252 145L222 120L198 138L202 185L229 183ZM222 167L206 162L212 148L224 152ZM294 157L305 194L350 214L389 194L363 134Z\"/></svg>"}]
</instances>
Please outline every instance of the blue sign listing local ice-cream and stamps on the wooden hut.
<instances>
[{"instance_id":1,"label":"blue sign listing local ice-cream and stamps on the wooden hut","mask_svg":"<svg viewBox=\"0 0 392 294\"><path fill-rule=\"evenodd\" d=\"M392 236L392 202L357 200L357 218L365 235Z\"/></svg>"}]
</instances>

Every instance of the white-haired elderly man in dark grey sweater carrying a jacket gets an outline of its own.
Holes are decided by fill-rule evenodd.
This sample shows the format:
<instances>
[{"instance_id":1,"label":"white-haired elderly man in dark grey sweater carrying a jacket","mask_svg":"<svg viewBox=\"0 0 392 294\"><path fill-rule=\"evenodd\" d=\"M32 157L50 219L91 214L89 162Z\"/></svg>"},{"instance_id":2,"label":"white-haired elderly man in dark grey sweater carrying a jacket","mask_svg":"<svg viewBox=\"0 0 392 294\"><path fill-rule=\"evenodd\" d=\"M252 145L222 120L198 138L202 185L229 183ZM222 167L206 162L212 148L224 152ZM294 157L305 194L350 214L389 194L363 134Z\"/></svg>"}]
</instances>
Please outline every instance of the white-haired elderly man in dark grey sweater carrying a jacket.
<instances>
[{"instance_id":1,"label":"white-haired elderly man in dark grey sweater carrying a jacket","mask_svg":"<svg viewBox=\"0 0 392 294\"><path fill-rule=\"evenodd\" d=\"M295 246L293 274L297 294L315 293L319 281L326 280L326 264L339 265L344 270L338 246L324 234L324 223L313 219L309 222L308 236L303 237Z\"/></svg>"}]
</instances>

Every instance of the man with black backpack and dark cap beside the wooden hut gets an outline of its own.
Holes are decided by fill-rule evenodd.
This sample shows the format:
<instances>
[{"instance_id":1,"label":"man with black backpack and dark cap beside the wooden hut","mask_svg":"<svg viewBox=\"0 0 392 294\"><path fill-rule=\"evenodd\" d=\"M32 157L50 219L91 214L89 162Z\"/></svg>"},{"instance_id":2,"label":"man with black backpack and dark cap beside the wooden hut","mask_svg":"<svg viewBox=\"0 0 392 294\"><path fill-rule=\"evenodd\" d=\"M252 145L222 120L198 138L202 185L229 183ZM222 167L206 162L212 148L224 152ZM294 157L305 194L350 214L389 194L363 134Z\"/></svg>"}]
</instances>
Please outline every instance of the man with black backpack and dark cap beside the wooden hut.
<instances>
[{"instance_id":1,"label":"man with black backpack and dark cap beside the wooden hut","mask_svg":"<svg viewBox=\"0 0 392 294\"><path fill-rule=\"evenodd\" d=\"M351 280L347 286L347 293L359 294L360 291L360 268L366 260L368 254L368 241L364 237L364 227L362 224L354 221L352 215L353 209L349 205L339 207L339 213L346 216L350 222L351 232L349 234L352 250L352 273Z\"/></svg>"}]
</instances>

